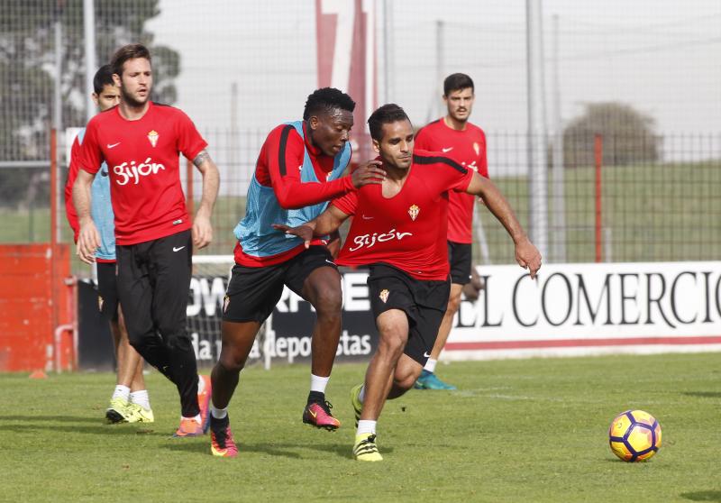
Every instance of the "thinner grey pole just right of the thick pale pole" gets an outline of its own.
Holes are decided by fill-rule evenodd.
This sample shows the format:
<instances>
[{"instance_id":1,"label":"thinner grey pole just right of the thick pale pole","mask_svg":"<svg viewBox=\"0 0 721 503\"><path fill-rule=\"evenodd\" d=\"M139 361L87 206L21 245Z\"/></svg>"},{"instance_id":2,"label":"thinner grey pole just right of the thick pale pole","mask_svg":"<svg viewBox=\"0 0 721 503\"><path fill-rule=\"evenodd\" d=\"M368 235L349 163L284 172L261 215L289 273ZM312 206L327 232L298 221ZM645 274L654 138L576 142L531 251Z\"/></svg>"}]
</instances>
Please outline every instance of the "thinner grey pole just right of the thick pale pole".
<instances>
[{"instance_id":1,"label":"thinner grey pole just right of the thick pale pole","mask_svg":"<svg viewBox=\"0 0 721 503\"><path fill-rule=\"evenodd\" d=\"M561 84L559 78L559 22L553 16L553 251L555 262L566 261L566 200L563 172L563 122L561 120Z\"/></svg>"}]
</instances>

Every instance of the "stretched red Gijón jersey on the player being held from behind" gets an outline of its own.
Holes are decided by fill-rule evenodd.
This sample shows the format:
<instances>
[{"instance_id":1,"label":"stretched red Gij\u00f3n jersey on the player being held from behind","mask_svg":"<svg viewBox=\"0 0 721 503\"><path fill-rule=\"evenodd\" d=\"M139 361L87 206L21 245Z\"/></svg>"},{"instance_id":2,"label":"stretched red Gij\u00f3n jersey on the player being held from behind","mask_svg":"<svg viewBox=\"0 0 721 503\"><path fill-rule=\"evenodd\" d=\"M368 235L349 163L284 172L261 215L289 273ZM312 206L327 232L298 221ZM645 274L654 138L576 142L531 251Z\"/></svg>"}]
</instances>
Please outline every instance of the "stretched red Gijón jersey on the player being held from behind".
<instances>
[{"instance_id":1,"label":"stretched red Gij\u00f3n jersey on the player being held from behind","mask_svg":"<svg viewBox=\"0 0 721 503\"><path fill-rule=\"evenodd\" d=\"M409 170L394 197L383 197L381 185L367 185L333 201L346 215L355 215L336 263L385 263L415 279L448 278L448 195L465 190L473 171L418 149Z\"/></svg>"}]
</instances>

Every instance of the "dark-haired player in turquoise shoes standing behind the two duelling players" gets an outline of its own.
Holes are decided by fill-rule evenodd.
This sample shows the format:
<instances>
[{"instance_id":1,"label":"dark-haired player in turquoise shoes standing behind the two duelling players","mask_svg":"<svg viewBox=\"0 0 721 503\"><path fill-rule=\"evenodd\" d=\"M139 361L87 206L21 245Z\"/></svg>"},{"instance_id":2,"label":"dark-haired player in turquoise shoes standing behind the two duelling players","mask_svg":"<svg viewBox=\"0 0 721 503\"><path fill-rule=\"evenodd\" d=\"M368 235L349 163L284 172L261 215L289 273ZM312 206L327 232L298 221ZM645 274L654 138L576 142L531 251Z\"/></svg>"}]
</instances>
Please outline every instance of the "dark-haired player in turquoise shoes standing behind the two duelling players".
<instances>
[{"instance_id":1,"label":"dark-haired player in turquoise shoes standing behind the two duelling players","mask_svg":"<svg viewBox=\"0 0 721 503\"><path fill-rule=\"evenodd\" d=\"M427 124L415 135L415 148L442 152L488 178L486 134L469 122L475 99L473 80L464 73L454 73L443 81L443 101L448 109L444 117ZM473 205L476 197L463 192L448 194L448 261L451 264L451 296L443 316L431 357L415 382L416 389L456 389L435 375L435 365L451 334L453 316L461 306L461 291L471 281Z\"/></svg>"}]
</instances>

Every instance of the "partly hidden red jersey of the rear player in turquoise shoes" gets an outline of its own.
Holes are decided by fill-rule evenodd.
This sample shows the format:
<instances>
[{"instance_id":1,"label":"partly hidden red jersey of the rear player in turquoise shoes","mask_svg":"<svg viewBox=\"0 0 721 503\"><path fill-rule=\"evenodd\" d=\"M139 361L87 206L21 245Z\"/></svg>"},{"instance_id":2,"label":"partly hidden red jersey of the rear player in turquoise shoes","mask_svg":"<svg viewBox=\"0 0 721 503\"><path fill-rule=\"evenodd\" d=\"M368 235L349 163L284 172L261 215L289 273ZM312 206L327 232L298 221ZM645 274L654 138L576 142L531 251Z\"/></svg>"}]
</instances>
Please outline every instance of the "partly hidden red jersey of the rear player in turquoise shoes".
<instances>
[{"instance_id":1,"label":"partly hidden red jersey of the rear player in turquoise shoes","mask_svg":"<svg viewBox=\"0 0 721 503\"><path fill-rule=\"evenodd\" d=\"M422 127L415 135L415 148L443 152L465 168L478 171L488 178L486 134L478 126L466 123L466 129L456 131L438 119ZM452 192L448 203L448 241L473 242L473 205L470 194Z\"/></svg>"}]
</instances>

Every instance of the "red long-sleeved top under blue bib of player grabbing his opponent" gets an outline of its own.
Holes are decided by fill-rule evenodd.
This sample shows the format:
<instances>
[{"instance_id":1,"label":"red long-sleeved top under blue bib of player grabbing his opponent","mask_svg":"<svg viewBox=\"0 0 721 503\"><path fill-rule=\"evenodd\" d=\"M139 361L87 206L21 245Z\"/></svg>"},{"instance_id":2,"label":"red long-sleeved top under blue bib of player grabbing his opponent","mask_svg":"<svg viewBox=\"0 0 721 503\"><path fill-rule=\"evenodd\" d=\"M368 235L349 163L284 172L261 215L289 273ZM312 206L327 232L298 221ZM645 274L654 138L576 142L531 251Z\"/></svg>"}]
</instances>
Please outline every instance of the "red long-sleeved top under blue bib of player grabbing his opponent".
<instances>
[{"instance_id":1,"label":"red long-sleeved top under blue bib of player grabbing his opponent","mask_svg":"<svg viewBox=\"0 0 721 503\"><path fill-rule=\"evenodd\" d=\"M307 183L300 179L300 168L308 154L315 176L325 180L333 170L333 157L327 156L308 140L306 125L304 138L288 124L280 124L268 134L255 165L253 176L263 187L272 187L278 205L284 208L300 208L315 205L355 190L350 176L336 178L324 183ZM285 132L285 133L284 133ZM315 240L313 244L325 244ZM245 267L264 267L289 261L306 249L303 243L277 255L257 257L242 250L242 242L235 245L235 263Z\"/></svg>"}]
</instances>

